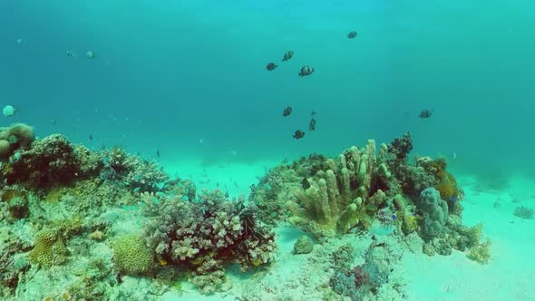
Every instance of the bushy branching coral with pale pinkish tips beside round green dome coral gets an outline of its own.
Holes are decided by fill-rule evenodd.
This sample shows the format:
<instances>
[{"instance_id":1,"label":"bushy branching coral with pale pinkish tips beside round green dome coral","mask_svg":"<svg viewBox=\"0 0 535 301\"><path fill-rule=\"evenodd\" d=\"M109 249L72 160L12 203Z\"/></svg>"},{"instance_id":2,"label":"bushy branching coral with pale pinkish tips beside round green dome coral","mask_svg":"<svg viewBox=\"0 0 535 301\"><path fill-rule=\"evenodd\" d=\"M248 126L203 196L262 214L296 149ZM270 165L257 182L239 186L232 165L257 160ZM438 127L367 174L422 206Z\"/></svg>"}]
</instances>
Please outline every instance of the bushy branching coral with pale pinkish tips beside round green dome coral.
<instances>
[{"instance_id":1,"label":"bushy branching coral with pale pinkish tips beside round green dome coral","mask_svg":"<svg viewBox=\"0 0 535 301\"><path fill-rule=\"evenodd\" d=\"M219 189L203 191L199 201L181 196L143 194L149 246L168 263L196 275L219 273L224 264L256 267L273 260L274 234L258 223L244 199L229 201Z\"/></svg>"}]
</instances>

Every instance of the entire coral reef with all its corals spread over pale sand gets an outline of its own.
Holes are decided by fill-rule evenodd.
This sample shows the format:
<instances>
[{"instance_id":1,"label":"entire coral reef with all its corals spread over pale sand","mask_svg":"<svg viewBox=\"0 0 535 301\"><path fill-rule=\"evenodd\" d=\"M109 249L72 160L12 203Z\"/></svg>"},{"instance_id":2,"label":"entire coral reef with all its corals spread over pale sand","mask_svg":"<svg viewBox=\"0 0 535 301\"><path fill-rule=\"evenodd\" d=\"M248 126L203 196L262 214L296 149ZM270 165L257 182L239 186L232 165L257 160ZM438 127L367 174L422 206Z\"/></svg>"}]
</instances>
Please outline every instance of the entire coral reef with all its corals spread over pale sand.
<instances>
[{"instance_id":1,"label":"entire coral reef with all its corals spread over pale sand","mask_svg":"<svg viewBox=\"0 0 535 301\"><path fill-rule=\"evenodd\" d=\"M285 263L308 268L286 276L292 285L306 282L323 299L401 299L394 275L405 244L481 263L491 250L480 226L462 226L462 190L445 161L411 163L412 147L407 133L379 151L370 140L335 158L284 161L251 187L246 206L219 189L198 195L193 181L118 147L90 151L62 135L34 140L27 125L2 129L0 297L156 300L186 279L212 294L231 289L234 267L269 284L263 271L277 248L266 224L287 220L310 232L294 245L308 255ZM318 270L326 273L310 286L303 275Z\"/></svg>"}]
</instances>

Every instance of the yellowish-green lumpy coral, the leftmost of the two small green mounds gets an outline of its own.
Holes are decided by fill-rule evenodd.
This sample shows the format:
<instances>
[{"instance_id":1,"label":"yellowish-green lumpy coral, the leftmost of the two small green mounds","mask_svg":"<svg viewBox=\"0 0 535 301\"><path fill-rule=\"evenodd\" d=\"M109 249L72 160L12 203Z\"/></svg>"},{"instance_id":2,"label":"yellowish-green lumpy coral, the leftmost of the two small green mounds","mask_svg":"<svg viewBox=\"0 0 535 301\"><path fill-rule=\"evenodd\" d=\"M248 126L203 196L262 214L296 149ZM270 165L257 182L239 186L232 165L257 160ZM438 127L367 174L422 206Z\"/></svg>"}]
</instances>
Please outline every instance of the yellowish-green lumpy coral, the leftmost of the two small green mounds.
<instances>
[{"instance_id":1,"label":"yellowish-green lumpy coral, the leftmost of the two small green mounds","mask_svg":"<svg viewBox=\"0 0 535 301\"><path fill-rule=\"evenodd\" d=\"M32 264L41 267L52 267L62 264L67 255L67 248L63 238L55 229L44 229L35 238L35 246L30 251L29 259Z\"/></svg>"}]
</instances>

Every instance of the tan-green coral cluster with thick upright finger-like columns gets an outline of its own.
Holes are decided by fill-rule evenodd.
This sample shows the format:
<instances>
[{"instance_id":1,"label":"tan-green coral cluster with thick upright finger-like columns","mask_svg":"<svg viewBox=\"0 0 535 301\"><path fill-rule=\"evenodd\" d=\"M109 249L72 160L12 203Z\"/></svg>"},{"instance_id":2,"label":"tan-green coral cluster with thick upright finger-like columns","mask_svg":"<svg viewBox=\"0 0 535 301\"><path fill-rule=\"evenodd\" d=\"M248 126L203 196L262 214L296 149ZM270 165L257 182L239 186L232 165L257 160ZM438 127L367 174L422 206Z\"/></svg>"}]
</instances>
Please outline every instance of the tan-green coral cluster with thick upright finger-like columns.
<instances>
[{"instance_id":1,"label":"tan-green coral cluster with thick upright finger-like columns","mask_svg":"<svg viewBox=\"0 0 535 301\"><path fill-rule=\"evenodd\" d=\"M296 198L287 201L293 216L289 221L316 236L344 234L357 225L371 225L375 211L399 191L383 162L387 146L379 157L375 141L363 149L351 147L336 160L327 159L327 169L306 179L307 188L297 189ZM387 195L388 194L388 195Z\"/></svg>"}]
</instances>

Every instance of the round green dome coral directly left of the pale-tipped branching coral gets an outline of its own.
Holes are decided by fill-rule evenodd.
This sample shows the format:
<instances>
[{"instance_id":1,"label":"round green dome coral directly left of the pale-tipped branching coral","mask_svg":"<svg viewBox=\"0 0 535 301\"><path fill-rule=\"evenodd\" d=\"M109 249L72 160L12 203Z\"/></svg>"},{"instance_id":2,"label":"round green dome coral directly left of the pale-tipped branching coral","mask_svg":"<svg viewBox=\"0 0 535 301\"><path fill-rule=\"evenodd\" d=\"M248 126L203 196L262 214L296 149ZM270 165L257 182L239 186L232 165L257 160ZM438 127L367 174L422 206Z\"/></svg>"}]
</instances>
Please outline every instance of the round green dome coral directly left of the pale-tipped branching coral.
<instances>
[{"instance_id":1,"label":"round green dome coral directly left of the pale-tipped branching coral","mask_svg":"<svg viewBox=\"0 0 535 301\"><path fill-rule=\"evenodd\" d=\"M151 270L153 254L145 240L136 234L117 238L113 244L113 263L117 270L126 275L142 275Z\"/></svg>"}]
</instances>

